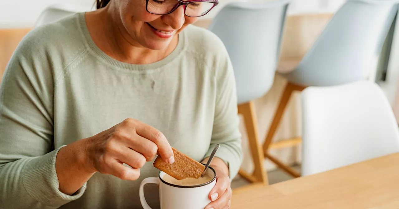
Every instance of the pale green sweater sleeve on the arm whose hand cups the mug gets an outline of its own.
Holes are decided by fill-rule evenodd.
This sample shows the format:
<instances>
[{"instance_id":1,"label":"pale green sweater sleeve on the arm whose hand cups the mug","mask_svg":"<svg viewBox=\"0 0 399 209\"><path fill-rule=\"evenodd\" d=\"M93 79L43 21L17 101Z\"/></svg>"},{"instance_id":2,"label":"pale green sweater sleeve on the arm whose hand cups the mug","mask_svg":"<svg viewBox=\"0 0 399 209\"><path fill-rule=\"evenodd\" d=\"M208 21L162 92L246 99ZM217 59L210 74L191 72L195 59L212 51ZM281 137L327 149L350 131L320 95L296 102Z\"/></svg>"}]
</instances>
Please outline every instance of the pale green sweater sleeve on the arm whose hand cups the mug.
<instances>
[{"instance_id":1,"label":"pale green sweater sleeve on the arm whose hand cups the mug","mask_svg":"<svg viewBox=\"0 0 399 209\"><path fill-rule=\"evenodd\" d=\"M221 41L220 41L221 42ZM241 147L241 133L239 132L239 117L237 114L237 92L233 66L229 55L221 43L219 64L215 70L217 83L215 116L211 146L206 154L209 156L213 148L220 144L215 156L224 160L229 166L229 177L233 179L241 166L243 153Z\"/></svg>"}]
</instances>

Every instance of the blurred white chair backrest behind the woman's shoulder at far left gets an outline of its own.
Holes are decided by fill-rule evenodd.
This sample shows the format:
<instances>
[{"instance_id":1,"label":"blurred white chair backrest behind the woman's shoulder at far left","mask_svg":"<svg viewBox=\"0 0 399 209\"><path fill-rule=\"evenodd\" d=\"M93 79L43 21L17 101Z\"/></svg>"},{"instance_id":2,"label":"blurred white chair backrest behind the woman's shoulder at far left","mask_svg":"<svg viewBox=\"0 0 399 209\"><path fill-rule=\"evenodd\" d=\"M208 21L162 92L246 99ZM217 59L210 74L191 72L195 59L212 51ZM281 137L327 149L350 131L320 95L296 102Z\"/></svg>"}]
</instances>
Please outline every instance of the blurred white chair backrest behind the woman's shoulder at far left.
<instances>
[{"instance_id":1,"label":"blurred white chair backrest behind the woman's shoulder at far left","mask_svg":"<svg viewBox=\"0 0 399 209\"><path fill-rule=\"evenodd\" d=\"M87 8L83 5L77 4L55 4L45 8L45 10L41 12L38 20L35 23L35 27L61 20L77 12L87 12L91 9L92 8Z\"/></svg>"}]
</instances>

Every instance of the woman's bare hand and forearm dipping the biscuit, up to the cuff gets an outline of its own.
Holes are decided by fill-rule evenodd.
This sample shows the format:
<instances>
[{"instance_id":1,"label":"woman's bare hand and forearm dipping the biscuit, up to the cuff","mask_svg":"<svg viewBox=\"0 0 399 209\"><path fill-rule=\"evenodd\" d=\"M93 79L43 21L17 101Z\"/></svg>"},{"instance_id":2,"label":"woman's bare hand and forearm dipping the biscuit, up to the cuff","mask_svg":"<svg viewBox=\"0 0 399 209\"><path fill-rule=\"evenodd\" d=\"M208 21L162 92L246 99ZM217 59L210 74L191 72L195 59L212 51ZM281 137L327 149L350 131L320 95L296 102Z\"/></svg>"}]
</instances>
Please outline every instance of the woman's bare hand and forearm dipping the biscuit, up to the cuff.
<instances>
[{"instance_id":1,"label":"woman's bare hand and forearm dipping the biscuit, up to the cuff","mask_svg":"<svg viewBox=\"0 0 399 209\"><path fill-rule=\"evenodd\" d=\"M73 195L97 171L136 180L140 168L157 153L166 162L174 162L172 148L160 131L140 121L126 119L93 137L59 149L55 160L59 191Z\"/></svg>"}]
</instances>

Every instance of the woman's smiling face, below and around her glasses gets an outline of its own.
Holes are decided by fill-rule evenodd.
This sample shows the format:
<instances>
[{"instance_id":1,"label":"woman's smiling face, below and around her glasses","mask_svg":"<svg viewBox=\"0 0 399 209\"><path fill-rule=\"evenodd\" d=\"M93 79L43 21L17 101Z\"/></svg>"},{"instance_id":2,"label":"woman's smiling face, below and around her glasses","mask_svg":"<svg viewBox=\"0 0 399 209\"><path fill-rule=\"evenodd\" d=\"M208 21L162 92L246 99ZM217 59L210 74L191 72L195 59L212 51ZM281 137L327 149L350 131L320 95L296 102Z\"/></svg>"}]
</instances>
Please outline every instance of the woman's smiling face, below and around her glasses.
<instances>
[{"instance_id":1,"label":"woman's smiling face, below and around her glasses","mask_svg":"<svg viewBox=\"0 0 399 209\"><path fill-rule=\"evenodd\" d=\"M171 14L155 15L146 11L146 0L111 0L111 3L116 3L122 25L130 37L152 50L166 48L173 37L198 19L185 16L183 6Z\"/></svg>"}]
</instances>

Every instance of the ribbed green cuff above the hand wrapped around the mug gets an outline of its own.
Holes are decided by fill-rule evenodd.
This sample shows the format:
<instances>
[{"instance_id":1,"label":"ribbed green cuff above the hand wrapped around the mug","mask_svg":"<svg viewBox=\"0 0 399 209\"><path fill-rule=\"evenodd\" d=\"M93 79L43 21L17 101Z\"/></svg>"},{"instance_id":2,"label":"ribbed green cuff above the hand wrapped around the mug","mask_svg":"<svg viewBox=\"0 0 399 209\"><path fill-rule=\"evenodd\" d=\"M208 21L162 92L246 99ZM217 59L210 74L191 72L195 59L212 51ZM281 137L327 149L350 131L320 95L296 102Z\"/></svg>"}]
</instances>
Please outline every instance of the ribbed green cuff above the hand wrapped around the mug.
<instances>
[{"instance_id":1,"label":"ribbed green cuff above the hand wrapped around the mug","mask_svg":"<svg viewBox=\"0 0 399 209\"><path fill-rule=\"evenodd\" d=\"M210 156L212 153L214 146L209 148L209 151L205 156ZM238 170L240 169L241 160L234 154L228 147L220 144L219 149L217 150L215 157L220 158L224 162L226 162L227 166L229 166L229 177L231 180L238 174Z\"/></svg>"}]
</instances>

